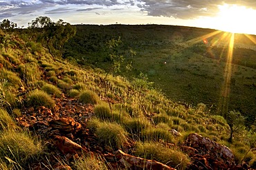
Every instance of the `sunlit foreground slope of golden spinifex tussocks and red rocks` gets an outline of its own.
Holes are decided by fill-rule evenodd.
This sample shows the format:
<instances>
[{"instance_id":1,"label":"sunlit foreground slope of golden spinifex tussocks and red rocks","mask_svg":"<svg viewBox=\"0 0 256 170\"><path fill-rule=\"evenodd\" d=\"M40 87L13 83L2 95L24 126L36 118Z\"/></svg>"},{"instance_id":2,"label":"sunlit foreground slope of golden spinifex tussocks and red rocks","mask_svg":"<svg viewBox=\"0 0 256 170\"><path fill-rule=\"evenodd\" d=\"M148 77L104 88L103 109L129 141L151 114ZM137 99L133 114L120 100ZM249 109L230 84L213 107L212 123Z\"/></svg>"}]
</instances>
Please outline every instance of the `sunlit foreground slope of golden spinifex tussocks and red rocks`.
<instances>
[{"instance_id":1,"label":"sunlit foreground slope of golden spinifex tussocks and red rocks","mask_svg":"<svg viewBox=\"0 0 256 170\"><path fill-rule=\"evenodd\" d=\"M255 168L254 131L232 122L227 142L204 104L53 58L30 36L0 32L0 169Z\"/></svg>"}]
</instances>

